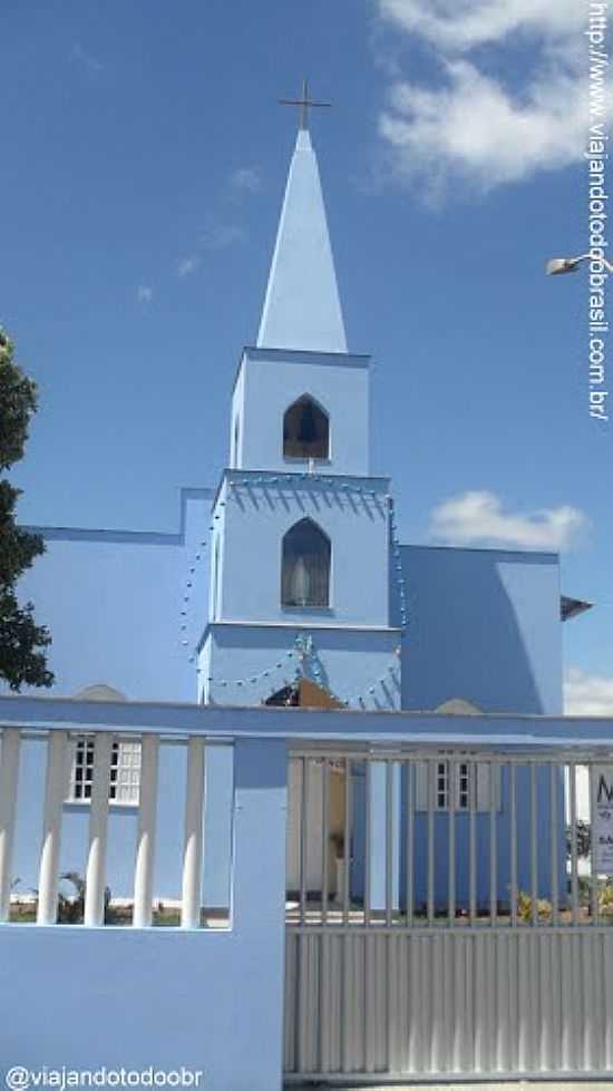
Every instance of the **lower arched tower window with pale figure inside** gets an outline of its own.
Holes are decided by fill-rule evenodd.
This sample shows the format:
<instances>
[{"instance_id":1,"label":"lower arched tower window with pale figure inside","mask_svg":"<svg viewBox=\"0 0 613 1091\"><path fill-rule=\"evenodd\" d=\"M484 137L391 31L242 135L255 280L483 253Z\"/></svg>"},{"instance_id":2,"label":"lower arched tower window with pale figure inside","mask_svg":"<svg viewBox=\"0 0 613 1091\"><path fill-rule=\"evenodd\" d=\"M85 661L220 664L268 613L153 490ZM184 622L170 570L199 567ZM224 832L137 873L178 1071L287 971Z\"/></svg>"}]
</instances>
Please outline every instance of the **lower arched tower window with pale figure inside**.
<instances>
[{"instance_id":1,"label":"lower arched tower window with pale figure inside","mask_svg":"<svg viewBox=\"0 0 613 1091\"><path fill-rule=\"evenodd\" d=\"M281 603L283 606L328 606L330 538L312 519L301 519L283 538Z\"/></svg>"}]
</instances>

